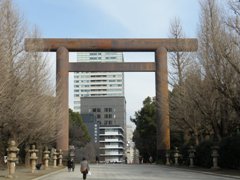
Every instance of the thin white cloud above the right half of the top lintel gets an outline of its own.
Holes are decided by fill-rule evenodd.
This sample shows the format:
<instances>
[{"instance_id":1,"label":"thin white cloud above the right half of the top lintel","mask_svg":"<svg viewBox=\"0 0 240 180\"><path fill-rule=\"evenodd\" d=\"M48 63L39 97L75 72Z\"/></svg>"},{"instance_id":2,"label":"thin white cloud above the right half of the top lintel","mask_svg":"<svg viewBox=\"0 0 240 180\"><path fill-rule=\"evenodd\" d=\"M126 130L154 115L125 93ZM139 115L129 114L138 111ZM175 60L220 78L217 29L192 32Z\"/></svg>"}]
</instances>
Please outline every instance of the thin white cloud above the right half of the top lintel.
<instances>
[{"instance_id":1,"label":"thin white cloud above the right half of the top lintel","mask_svg":"<svg viewBox=\"0 0 240 180\"><path fill-rule=\"evenodd\" d=\"M130 37L167 37L170 20L184 16L192 0L89 0L129 30ZM196 7L195 7L196 8ZM194 10L194 7L192 9ZM191 12L192 13L192 12ZM181 17L180 17L181 18Z\"/></svg>"}]
</instances>

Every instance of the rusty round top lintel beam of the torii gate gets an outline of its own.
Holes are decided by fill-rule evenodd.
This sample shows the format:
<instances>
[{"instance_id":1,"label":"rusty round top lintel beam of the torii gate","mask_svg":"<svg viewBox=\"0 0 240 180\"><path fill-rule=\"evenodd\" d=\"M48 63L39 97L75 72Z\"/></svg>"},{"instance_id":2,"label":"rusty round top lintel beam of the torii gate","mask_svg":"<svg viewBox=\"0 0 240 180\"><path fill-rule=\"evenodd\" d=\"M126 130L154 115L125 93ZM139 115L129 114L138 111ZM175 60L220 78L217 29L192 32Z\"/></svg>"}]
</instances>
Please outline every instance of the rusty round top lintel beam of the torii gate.
<instances>
[{"instance_id":1,"label":"rusty round top lintel beam of the torii gate","mask_svg":"<svg viewBox=\"0 0 240 180\"><path fill-rule=\"evenodd\" d=\"M66 38L27 38L25 48L31 50L32 44L41 44L35 51L55 52L65 47L70 52L81 51L126 51L148 52L164 47L168 52L196 51L197 39L66 39Z\"/></svg>"}]
</instances>

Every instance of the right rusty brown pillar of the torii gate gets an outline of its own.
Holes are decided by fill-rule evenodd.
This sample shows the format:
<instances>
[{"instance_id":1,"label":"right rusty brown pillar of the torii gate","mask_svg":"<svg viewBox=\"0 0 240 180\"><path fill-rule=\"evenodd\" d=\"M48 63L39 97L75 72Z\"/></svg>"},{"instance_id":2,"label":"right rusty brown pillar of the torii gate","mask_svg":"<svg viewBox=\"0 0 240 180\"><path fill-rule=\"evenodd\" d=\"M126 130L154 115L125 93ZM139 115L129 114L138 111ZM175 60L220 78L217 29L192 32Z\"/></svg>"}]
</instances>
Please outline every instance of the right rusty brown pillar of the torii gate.
<instances>
[{"instance_id":1,"label":"right rusty brown pillar of the torii gate","mask_svg":"<svg viewBox=\"0 0 240 180\"><path fill-rule=\"evenodd\" d=\"M168 68L167 50L161 47L155 52L156 115L157 115L157 159L164 159L170 149Z\"/></svg>"}]
</instances>

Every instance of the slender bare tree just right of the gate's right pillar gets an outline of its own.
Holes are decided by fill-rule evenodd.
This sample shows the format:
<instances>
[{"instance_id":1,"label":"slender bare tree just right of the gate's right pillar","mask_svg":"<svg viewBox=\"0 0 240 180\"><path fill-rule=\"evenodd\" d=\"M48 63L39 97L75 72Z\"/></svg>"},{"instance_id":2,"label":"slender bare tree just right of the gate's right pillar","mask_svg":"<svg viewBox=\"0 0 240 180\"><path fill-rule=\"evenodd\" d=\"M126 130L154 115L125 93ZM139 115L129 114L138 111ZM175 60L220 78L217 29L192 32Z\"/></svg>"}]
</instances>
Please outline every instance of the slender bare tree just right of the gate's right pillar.
<instances>
[{"instance_id":1,"label":"slender bare tree just right of the gate's right pillar","mask_svg":"<svg viewBox=\"0 0 240 180\"><path fill-rule=\"evenodd\" d=\"M177 45L178 40L184 38L181 22L177 18L170 25L170 37L176 40ZM195 59L196 57L193 54L186 52L170 53L169 84L173 88L170 92L170 125L172 133L184 134L185 143L190 140L191 137L189 136L193 136L195 144L198 144L201 118L199 118L199 112L197 112L194 99L191 96L193 89L189 88L189 84L192 84L191 81L196 83L200 80L201 82L199 67ZM193 85L195 86L195 84Z\"/></svg>"}]
</instances>

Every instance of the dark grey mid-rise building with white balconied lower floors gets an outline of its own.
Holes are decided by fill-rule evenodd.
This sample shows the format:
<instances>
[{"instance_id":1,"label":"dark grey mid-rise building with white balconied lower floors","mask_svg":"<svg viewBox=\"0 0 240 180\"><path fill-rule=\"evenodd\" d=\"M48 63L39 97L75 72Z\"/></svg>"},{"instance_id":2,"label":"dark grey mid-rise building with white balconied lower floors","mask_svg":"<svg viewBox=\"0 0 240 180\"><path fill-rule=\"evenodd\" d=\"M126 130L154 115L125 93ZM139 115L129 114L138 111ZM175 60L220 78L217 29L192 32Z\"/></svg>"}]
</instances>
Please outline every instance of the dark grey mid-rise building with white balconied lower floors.
<instances>
[{"instance_id":1,"label":"dark grey mid-rise building with white balconied lower floors","mask_svg":"<svg viewBox=\"0 0 240 180\"><path fill-rule=\"evenodd\" d=\"M100 124L100 162L120 163L125 158L125 97L83 97L81 112L91 113Z\"/></svg>"}]
</instances>

